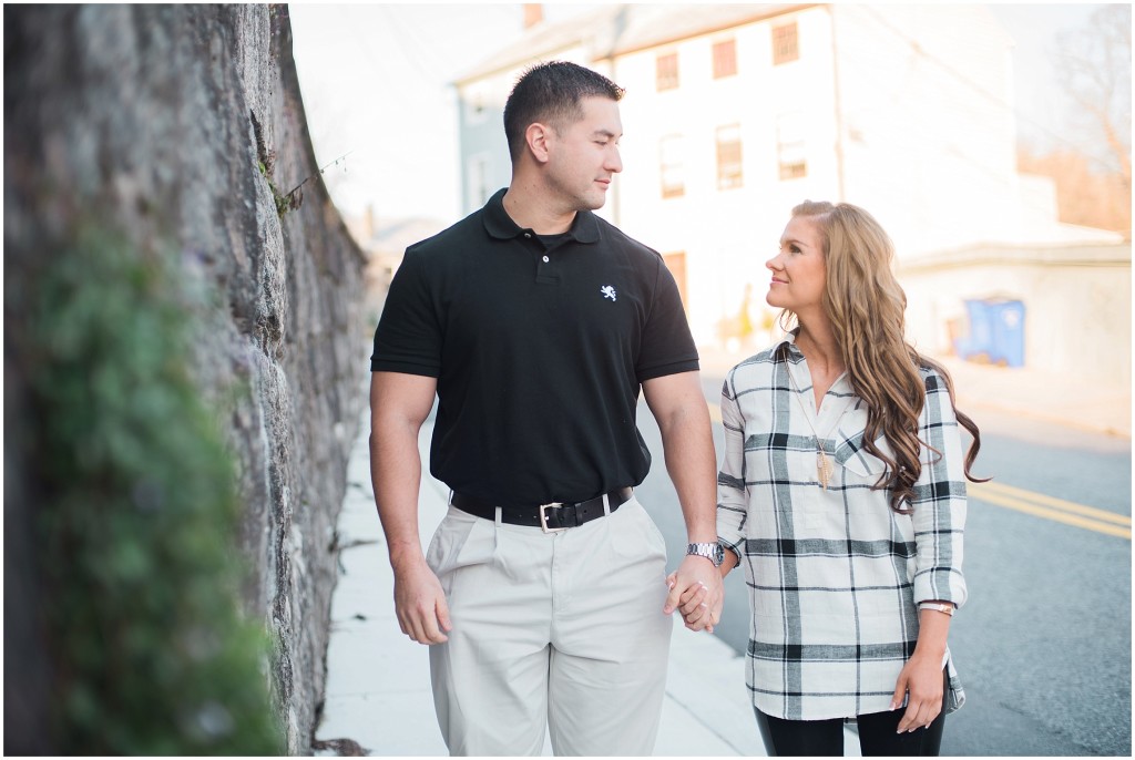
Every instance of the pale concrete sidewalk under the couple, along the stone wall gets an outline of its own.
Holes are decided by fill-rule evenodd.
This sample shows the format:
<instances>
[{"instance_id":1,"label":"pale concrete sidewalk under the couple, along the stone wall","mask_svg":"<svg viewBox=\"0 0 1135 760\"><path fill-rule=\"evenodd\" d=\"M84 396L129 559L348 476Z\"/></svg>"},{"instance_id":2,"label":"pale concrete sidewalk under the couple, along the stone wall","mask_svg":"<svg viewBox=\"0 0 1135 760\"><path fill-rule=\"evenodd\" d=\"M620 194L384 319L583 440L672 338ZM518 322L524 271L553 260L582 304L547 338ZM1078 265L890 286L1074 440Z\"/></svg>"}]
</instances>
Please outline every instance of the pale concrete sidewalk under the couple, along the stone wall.
<instances>
[{"instance_id":1,"label":"pale concrete sidewalk under the couple, along the stone wall","mask_svg":"<svg viewBox=\"0 0 1135 760\"><path fill-rule=\"evenodd\" d=\"M428 650L411 642L394 616L394 575L370 487L369 416L361 430L338 522L340 576L331 599L326 701L316 740L353 740L375 755L448 755L434 713ZM419 439L423 462L429 461L431 433L428 422ZM442 483L423 479L423 549L445 515L447 498ZM679 616L674 619L655 754L763 757L743 659L713 635L687 631ZM545 743L545 754L550 753Z\"/></svg>"}]
</instances>

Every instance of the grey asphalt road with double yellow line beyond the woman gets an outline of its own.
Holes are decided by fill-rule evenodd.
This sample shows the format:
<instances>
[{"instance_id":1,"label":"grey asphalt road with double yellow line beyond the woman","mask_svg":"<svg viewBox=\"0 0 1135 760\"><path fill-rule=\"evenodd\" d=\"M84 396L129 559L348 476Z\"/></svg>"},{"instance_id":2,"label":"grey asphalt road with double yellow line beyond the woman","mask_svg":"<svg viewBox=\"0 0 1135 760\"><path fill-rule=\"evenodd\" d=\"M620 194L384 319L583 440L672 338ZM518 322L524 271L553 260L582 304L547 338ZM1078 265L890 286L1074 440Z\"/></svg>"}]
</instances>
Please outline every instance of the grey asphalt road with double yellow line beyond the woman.
<instances>
[{"instance_id":1,"label":"grey asphalt road with double yellow line beyond the woman","mask_svg":"<svg viewBox=\"0 0 1135 760\"><path fill-rule=\"evenodd\" d=\"M717 404L720 381L705 386ZM973 416L983 441L975 468L994 481L970 488L970 596L950 632L967 702L948 718L942 753L1130 757L1130 441ZM639 428L654 455L639 497L676 559L684 524L645 404ZM720 459L716 423L714 439ZM741 573L730 574L725 593L714 635L743 651Z\"/></svg>"}]
</instances>

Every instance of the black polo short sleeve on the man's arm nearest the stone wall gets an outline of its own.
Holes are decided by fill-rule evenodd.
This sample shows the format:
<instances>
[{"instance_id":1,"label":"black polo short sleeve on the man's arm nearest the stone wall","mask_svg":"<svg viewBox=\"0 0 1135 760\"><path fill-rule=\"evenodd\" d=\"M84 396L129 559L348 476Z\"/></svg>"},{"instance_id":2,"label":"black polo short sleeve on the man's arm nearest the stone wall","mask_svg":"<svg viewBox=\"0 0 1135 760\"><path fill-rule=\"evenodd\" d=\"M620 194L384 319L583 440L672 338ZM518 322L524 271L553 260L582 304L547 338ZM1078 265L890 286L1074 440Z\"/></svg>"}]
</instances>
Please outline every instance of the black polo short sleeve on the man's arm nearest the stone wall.
<instances>
[{"instance_id":1,"label":"black polo short sleeve on the man's arm nearest the stone wall","mask_svg":"<svg viewBox=\"0 0 1135 760\"><path fill-rule=\"evenodd\" d=\"M426 256L411 247L390 281L375 330L370 370L437 378L442 372L443 337Z\"/></svg>"}]
</instances>

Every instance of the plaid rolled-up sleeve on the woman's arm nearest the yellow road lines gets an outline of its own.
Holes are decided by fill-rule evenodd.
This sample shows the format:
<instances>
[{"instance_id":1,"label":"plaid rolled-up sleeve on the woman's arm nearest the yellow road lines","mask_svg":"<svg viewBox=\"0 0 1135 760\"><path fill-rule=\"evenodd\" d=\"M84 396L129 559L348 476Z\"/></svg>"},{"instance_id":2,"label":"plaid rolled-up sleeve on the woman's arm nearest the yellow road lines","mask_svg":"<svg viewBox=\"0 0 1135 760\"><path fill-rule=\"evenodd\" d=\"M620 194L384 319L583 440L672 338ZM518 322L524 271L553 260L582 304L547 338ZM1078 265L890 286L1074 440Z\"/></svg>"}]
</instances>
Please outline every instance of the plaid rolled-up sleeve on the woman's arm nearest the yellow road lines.
<instances>
[{"instance_id":1,"label":"plaid rolled-up sleeve on the woman's arm nearest the yellow road lines","mask_svg":"<svg viewBox=\"0 0 1135 760\"><path fill-rule=\"evenodd\" d=\"M926 404L918 431L923 441L922 474L911 500L916 546L914 600L916 603L942 600L961 607L967 596L961 573L966 525L961 438L944 378L934 371L924 377Z\"/></svg>"}]
</instances>

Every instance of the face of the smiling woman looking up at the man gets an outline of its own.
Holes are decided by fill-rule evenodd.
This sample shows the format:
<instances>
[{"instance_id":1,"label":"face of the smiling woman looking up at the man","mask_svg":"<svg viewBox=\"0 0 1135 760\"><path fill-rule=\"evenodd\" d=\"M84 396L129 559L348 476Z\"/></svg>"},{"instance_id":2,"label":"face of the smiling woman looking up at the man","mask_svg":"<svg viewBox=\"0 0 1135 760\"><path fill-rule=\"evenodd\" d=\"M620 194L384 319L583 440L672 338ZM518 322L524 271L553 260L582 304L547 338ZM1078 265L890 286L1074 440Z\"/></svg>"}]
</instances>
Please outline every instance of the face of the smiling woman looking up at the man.
<instances>
[{"instance_id":1,"label":"face of the smiling woman looking up at the man","mask_svg":"<svg viewBox=\"0 0 1135 760\"><path fill-rule=\"evenodd\" d=\"M792 217L781 235L780 253L765 262L772 271L772 282L765 301L770 306L789 309L798 316L823 309L824 264L823 238L814 219Z\"/></svg>"}]
</instances>

